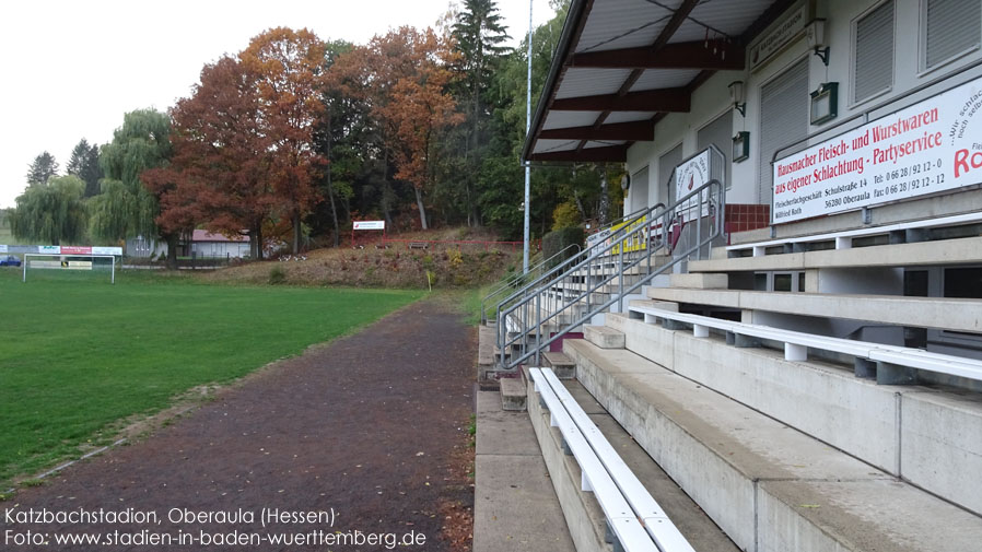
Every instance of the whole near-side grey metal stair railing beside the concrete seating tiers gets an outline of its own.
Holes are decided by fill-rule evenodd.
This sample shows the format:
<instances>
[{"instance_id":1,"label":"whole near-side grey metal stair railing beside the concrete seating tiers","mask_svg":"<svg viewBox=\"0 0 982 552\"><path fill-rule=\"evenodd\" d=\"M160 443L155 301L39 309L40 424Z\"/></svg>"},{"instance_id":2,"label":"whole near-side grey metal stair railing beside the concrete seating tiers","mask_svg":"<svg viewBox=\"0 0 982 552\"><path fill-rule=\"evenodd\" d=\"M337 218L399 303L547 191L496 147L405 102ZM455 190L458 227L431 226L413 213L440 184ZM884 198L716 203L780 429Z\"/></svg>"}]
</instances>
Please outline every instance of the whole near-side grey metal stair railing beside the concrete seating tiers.
<instances>
[{"instance_id":1,"label":"whole near-side grey metal stair railing beside the concrete seating tiers","mask_svg":"<svg viewBox=\"0 0 982 552\"><path fill-rule=\"evenodd\" d=\"M622 313L624 295L693 256L701 259L702 251L708 254L713 240L723 235L725 202L723 184L710 180L668 208L651 208L636 223L624 226L626 232L598 244L603 247L587 249L580 256L582 260L562 273L553 275L550 271L536 280L521 293L518 301L499 308L500 367L514 369L533 357L539 364L542 350L594 316L615 304ZM656 258L653 266L652 258L658 251L670 257L664 262ZM640 272L642 265L646 265L643 274L636 274L633 284L626 284L626 273ZM581 313L585 314L577 315L580 305L583 305ZM508 322L515 328L511 339ZM556 331L543 338L547 327L556 327ZM529 347L533 333L535 343ZM517 355L506 360L507 352L514 348L518 349Z\"/></svg>"}]
</instances>

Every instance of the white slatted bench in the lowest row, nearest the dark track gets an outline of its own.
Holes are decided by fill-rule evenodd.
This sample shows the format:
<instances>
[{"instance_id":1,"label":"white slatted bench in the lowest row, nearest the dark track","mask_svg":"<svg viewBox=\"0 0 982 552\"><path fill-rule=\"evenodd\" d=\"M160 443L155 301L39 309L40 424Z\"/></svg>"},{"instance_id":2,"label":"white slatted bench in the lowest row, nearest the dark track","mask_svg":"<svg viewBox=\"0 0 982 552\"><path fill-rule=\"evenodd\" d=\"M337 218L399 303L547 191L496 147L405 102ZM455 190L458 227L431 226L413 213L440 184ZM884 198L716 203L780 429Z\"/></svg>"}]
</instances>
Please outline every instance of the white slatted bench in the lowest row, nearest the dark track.
<instances>
[{"instance_id":1,"label":"white slatted bench in the lowest row, nearest the dark track","mask_svg":"<svg viewBox=\"0 0 982 552\"><path fill-rule=\"evenodd\" d=\"M559 427L580 465L581 488L596 496L621 549L694 552L552 368L529 368L529 375L549 409L550 425Z\"/></svg>"}]
</instances>

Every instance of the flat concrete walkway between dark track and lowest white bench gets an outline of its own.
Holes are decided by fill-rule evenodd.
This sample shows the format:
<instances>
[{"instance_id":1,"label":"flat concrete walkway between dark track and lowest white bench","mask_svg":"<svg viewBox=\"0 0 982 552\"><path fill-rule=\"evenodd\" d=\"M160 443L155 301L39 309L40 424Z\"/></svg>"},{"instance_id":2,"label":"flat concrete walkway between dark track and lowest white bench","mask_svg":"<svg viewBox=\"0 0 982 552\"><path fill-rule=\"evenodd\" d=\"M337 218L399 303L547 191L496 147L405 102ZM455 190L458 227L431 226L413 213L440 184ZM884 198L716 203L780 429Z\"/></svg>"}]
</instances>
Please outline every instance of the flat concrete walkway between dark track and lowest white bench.
<instances>
[{"instance_id":1,"label":"flat concrete walkway between dark track and lowest white bench","mask_svg":"<svg viewBox=\"0 0 982 552\"><path fill-rule=\"evenodd\" d=\"M574 552L528 416L477 396L474 552Z\"/></svg>"}]
</instances>

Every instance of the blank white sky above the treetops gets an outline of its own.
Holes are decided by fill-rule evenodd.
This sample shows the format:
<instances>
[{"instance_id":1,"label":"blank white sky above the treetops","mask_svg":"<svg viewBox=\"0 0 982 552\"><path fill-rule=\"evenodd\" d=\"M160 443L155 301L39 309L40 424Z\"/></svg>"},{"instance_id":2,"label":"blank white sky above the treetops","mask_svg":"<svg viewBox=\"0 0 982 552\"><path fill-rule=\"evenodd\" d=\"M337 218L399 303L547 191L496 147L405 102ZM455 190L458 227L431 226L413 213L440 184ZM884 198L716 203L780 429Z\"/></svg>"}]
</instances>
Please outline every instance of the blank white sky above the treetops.
<instances>
[{"instance_id":1,"label":"blank white sky above the treetops","mask_svg":"<svg viewBox=\"0 0 982 552\"><path fill-rule=\"evenodd\" d=\"M536 25L552 16L530 0ZM452 0L11 0L0 5L0 208L13 207L34 157L60 173L80 139L106 143L122 115L166 110L201 67L266 28L313 30L364 44L389 28L433 26ZM528 32L529 0L498 0L512 44Z\"/></svg>"}]
</instances>

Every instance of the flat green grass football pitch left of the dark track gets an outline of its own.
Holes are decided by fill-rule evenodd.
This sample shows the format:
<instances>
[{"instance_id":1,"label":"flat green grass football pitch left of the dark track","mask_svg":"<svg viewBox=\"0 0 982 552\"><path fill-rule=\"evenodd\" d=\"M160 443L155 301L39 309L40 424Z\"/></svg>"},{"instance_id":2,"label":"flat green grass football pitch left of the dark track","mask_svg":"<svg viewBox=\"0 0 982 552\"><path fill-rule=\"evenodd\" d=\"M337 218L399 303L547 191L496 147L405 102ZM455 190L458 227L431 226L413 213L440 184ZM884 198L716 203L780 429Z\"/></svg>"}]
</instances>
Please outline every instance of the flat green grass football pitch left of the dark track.
<instances>
[{"instance_id":1,"label":"flat green grass football pitch left of the dark track","mask_svg":"<svg viewBox=\"0 0 982 552\"><path fill-rule=\"evenodd\" d=\"M40 271L38 271L39 273ZM57 271L52 271L57 272ZM0 491L114 422L351 332L421 292L203 285L148 271L38 279L0 269Z\"/></svg>"}]
</instances>

